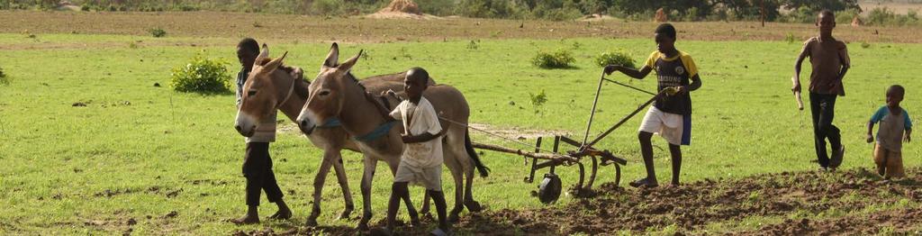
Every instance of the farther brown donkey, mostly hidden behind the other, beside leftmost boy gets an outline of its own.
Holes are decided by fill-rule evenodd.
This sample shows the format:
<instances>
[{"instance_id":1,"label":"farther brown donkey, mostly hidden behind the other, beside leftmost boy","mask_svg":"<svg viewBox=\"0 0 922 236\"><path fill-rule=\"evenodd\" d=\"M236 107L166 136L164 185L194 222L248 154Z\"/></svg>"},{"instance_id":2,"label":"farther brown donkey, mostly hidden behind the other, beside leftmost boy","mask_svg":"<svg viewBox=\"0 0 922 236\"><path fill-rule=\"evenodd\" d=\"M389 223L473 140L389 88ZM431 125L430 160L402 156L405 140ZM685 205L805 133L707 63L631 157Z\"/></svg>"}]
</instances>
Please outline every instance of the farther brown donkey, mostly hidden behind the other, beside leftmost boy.
<instances>
[{"instance_id":1,"label":"farther brown donkey, mostly hidden behind the other, beside leftmost boy","mask_svg":"<svg viewBox=\"0 0 922 236\"><path fill-rule=\"evenodd\" d=\"M287 53L286 53L287 54ZM243 94L240 110L237 112L237 121L235 127L242 136L252 136L254 132L255 121L266 117L270 112L281 111L292 122L296 121L301 108L308 98L307 81L291 77L289 73L284 72L282 60L285 55L270 60L268 58L268 47L263 44L263 50L257 56L253 66L253 72L247 78L243 85ZM368 82L375 81L395 81L387 89L401 89L403 85L396 81L403 81L403 74L383 75L370 77ZM364 81L363 81L364 82ZM384 85L385 83L379 83ZM322 202L321 194L323 191L326 174L329 173L330 167L336 171L337 181L343 190L343 198L346 208L339 214L339 218L349 218L355 204L352 202L352 195L349 192L349 182L347 181L346 171L342 164L342 149L359 151L358 145L350 138L349 134L336 124L327 124L324 127L316 128L307 135L314 146L324 149L324 159L313 179L313 208L311 215L307 218L307 225L314 226L317 224L317 218L320 216L320 203ZM393 163L390 163L393 162ZM389 164L396 168L399 161L390 161ZM404 201L408 206L412 206L409 198ZM408 207L410 216L416 219L416 210Z\"/></svg>"}]
</instances>

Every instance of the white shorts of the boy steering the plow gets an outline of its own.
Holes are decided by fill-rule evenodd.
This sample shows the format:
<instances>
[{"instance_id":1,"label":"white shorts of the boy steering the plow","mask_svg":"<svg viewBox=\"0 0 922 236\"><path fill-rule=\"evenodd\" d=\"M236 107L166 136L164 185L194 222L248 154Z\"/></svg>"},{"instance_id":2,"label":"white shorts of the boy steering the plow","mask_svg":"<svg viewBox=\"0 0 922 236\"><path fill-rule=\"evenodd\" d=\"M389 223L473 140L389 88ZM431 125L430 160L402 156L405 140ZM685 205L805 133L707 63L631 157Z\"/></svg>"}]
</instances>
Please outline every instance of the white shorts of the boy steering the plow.
<instances>
[{"instance_id":1,"label":"white shorts of the boy steering the plow","mask_svg":"<svg viewBox=\"0 0 922 236\"><path fill-rule=\"evenodd\" d=\"M659 111L651 106L638 131L659 134L671 145L691 143L691 116Z\"/></svg>"}]
</instances>

